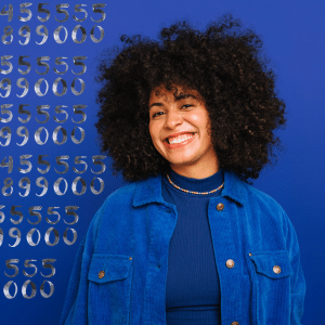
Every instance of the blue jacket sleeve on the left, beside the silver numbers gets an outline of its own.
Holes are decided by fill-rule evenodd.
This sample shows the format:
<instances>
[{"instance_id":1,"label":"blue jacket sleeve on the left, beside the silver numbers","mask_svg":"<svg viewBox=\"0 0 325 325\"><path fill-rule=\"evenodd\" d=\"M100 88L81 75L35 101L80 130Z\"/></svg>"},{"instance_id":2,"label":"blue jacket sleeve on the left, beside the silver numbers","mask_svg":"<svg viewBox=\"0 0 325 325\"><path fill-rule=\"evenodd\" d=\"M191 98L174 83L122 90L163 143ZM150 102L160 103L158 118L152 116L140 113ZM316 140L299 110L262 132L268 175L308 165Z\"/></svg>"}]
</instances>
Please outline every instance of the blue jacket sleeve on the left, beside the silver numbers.
<instances>
[{"instance_id":1,"label":"blue jacket sleeve on the left, beside the silver numbers","mask_svg":"<svg viewBox=\"0 0 325 325\"><path fill-rule=\"evenodd\" d=\"M92 219L86 237L79 245L70 275L60 325L88 324L88 272L105 204Z\"/></svg>"}]
</instances>

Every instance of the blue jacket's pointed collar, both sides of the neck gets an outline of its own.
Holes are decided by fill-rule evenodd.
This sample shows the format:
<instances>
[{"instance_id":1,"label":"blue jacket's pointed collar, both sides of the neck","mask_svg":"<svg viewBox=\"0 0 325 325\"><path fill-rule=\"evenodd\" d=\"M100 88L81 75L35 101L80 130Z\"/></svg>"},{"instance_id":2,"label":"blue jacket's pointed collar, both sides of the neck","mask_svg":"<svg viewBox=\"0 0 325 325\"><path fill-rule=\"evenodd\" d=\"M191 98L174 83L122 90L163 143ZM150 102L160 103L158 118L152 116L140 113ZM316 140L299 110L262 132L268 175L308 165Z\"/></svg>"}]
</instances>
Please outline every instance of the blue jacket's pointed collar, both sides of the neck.
<instances>
[{"instance_id":1,"label":"blue jacket's pointed collar, both sides of the neck","mask_svg":"<svg viewBox=\"0 0 325 325\"><path fill-rule=\"evenodd\" d=\"M221 192L221 197L226 196L244 205L242 196L243 183L244 182L233 171L224 169L224 187ZM133 207L150 203L165 203L161 195L161 174L139 181L136 184L133 196Z\"/></svg>"}]
</instances>

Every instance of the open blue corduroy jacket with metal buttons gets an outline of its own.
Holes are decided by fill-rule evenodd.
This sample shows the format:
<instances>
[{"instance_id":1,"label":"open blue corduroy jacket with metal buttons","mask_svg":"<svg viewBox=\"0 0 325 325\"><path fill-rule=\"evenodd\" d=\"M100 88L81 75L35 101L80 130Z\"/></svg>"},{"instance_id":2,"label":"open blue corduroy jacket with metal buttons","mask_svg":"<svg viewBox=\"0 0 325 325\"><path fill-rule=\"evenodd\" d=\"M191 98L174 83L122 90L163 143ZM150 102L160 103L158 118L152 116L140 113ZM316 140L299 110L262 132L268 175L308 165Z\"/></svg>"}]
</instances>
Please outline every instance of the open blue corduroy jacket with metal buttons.
<instances>
[{"instance_id":1,"label":"open blue corduroy jacket with metal buttons","mask_svg":"<svg viewBox=\"0 0 325 325\"><path fill-rule=\"evenodd\" d=\"M80 244L61 324L166 324L168 247L177 216L162 199L161 176L109 195ZM222 324L301 324L306 284L283 208L224 170L224 188L210 199L208 218Z\"/></svg>"}]
</instances>

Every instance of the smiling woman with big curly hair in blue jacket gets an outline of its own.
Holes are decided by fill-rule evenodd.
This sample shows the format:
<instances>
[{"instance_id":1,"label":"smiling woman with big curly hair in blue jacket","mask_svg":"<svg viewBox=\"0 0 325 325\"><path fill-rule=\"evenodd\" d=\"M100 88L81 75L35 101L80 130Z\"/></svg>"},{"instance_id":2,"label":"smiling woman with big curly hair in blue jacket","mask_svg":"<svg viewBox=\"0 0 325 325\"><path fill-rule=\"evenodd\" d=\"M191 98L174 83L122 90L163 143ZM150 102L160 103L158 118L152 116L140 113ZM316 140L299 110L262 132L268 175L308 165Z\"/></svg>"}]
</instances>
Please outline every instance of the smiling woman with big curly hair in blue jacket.
<instances>
[{"instance_id":1,"label":"smiling woman with big curly hair in blue jacket","mask_svg":"<svg viewBox=\"0 0 325 325\"><path fill-rule=\"evenodd\" d=\"M295 230L248 182L285 123L261 40L231 15L121 40L96 128L130 183L90 224L61 324L301 324Z\"/></svg>"}]
</instances>

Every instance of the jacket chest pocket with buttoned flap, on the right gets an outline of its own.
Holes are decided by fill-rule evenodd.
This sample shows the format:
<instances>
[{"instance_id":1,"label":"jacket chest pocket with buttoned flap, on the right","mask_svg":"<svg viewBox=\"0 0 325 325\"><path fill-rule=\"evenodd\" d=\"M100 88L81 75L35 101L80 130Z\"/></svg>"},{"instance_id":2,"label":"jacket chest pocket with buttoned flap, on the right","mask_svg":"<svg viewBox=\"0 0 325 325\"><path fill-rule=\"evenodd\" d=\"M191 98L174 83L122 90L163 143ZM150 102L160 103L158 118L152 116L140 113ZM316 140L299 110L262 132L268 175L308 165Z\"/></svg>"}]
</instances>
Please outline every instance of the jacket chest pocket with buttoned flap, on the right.
<instances>
[{"instance_id":1,"label":"jacket chest pocket with buttoned flap, on the right","mask_svg":"<svg viewBox=\"0 0 325 325\"><path fill-rule=\"evenodd\" d=\"M252 268L252 308L258 325L290 324L290 261L285 250L249 256Z\"/></svg>"}]
</instances>

